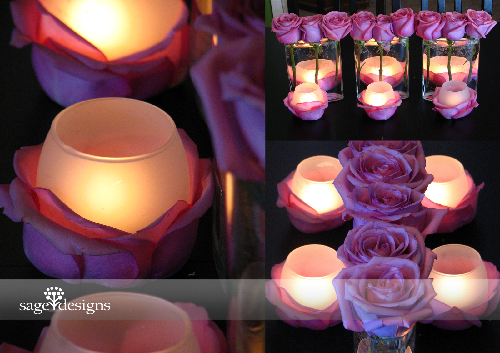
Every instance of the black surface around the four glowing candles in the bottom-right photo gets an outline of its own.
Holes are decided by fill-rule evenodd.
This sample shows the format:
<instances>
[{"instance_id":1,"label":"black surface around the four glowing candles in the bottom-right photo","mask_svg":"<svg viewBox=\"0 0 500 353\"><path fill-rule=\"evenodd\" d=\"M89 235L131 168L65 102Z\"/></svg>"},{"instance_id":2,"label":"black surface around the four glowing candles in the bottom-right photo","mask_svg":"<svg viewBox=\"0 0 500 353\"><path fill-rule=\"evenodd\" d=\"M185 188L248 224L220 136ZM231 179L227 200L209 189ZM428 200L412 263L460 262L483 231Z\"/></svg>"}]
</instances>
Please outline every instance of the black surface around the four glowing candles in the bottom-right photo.
<instances>
[{"instance_id":1,"label":"black surface around the four glowing candles in the bottom-right photo","mask_svg":"<svg viewBox=\"0 0 500 353\"><path fill-rule=\"evenodd\" d=\"M431 234L425 246L434 249L444 244L465 244L476 249L481 258L500 268L497 200L500 199L498 170L500 150L496 141L422 141L425 155L442 154L458 159L476 185L484 182L479 192L475 219L448 234ZM266 157L266 279L271 267L286 259L295 248L306 244L323 244L335 250L343 244L352 221L331 231L305 234L288 220L286 210L276 206L276 184L282 181L303 159L315 155L337 157L347 141L267 141ZM277 320L274 307L266 301L266 349L268 352L353 352L352 332L342 324L314 331L293 328ZM483 320L482 328L446 331L432 325L417 324L416 352L492 352L500 338L500 321ZM355 352L355 351L354 351Z\"/></svg>"}]
</instances>

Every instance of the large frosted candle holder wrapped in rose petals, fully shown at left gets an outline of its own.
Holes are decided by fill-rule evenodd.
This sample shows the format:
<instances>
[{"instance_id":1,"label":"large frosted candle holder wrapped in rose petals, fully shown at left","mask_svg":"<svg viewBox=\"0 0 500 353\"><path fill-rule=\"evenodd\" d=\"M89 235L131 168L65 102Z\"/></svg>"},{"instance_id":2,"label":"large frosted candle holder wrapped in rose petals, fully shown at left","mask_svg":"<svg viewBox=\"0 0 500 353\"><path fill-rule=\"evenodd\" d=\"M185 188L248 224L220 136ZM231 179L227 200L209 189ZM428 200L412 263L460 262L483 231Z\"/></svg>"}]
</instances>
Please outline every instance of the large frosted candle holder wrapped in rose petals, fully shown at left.
<instances>
[{"instance_id":1,"label":"large frosted candle holder wrapped in rose petals, fully shown at left","mask_svg":"<svg viewBox=\"0 0 500 353\"><path fill-rule=\"evenodd\" d=\"M121 103L116 104L116 102ZM93 119L83 114L85 117L83 125L78 125L77 121L81 121L81 114L71 114L77 108L84 109L90 106L102 108L102 104L107 103L111 105L107 109L101 109L107 112L105 117L111 122L119 117L125 120L124 116L128 112L129 120L124 124L127 127L113 129L115 125L110 124L110 121L95 111L87 112L89 116L94 117ZM111 109L111 106L115 109ZM134 115L137 109L142 114ZM113 115L112 112L117 115ZM100 123L99 117L102 118ZM154 133L152 136L144 135L147 142L144 142L143 137L141 139L133 133L124 140L120 135L120 132L129 133L130 129L140 130L137 124L148 125L149 129L141 131L143 133L151 132L151 128L154 130L155 126L163 126L168 131L165 127L168 125L168 119L170 119L170 133L174 137L168 141L160 141L160 148L155 145L158 142L155 137L163 136L162 133L158 136ZM54 178L66 175L68 185L63 179L61 183L55 184L54 190L57 188L57 191L52 192L47 186L38 185L40 180L37 180L39 179L37 171L39 171L38 162L42 145L23 147L16 151L14 170L17 178L10 185L1 185L0 200L5 215L14 222L24 222L23 244L27 258L46 275L74 283L81 280L95 281L110 287L123 286L123 281L113 282L117 279L127 279L131 283L135 279L161 278L177 272L187 261L194 245L198 218L206 212L212 202L213 180L210 161L198 158L196 145L182 129L174 130L175 125L167 114L144 102L124 98L90 100L66 108L54 119L55 122L56 120L61 124L52 124L51 133L47 136L47 146L54 147L51 141L59 138L67 142L65 138L68 136L68 141L75 142L75 135L72 135L74 131L77 131L79 136L87 134L93 136L94 129L97 129L101 135L94 136L94 139L90 140L94 144L89 143L80 147L90 153L87 149L94 148L97 151L104 146L100 152L111 155L105 154L105 157L99 157L102 154L87 154L81 152L80 147L67 145L62 140L56 141L56 147L52 152L57 158L50 158L49 155L48 158L44 158L43 166L40 167L44 170L43 176L47 173L52 173ZM106 135L109 129L111 135ZM57 131L55 135L53 131ZM63 133L68 135L64 136ZM104 138L102 141L97 141L99 136L111 136L114 140ZM134 138L137 139L136 145L132 143ZM130 150L126 150L123 141ZM84 143L84 139L80 142ZM154 151L146 153L153 145ZM165 156L162 153L170 151L170 147L174 145L175 148L180 148L181 154L185 153L185 156L181 157L186 158L184 159L187 164L185 187L189 189L189 196L187 199L171 200L172 204L165 204L163 210L161 206L157 206L157 201L160 204L164 201L163 197L158 198L157 195L165 196L172 190L168 189L168 186L165 188L160 182L151 184L151 179L144 181L140 176L154 178L161 175L162 170L155 169L155 164L147 163L154 161L157 156ZM138 156L131 154L129 156L132 157L121 159L113 158L116 157L112 155L113 153L131 151L133 153L134 148L146 149L142 152L146 154L139 153ZM165 153L172 156L169 154L171 152ZM61 158L65 158L67 163L59 164L59 169L55 170L57 163L51 163L60 162ZM85 168L81 169L82 167ZM123 173L124 171L126 173ZM48 178L48 182L51 179L53 178ZM177 180L172 181L178 184ZM61 201L61 198L76 205L78 212L89 212L87 217L92 219L77 214ZM151 209L153 203L156 207ZM99 212L100 208L105 210ZM101 216L104 218L99 218ZM150 218L151 216L153 217ZM120 227L121 230L112 228L109 224L101 224L99 221L112 222L114 227Z\"/></svg>"}]
</instances>

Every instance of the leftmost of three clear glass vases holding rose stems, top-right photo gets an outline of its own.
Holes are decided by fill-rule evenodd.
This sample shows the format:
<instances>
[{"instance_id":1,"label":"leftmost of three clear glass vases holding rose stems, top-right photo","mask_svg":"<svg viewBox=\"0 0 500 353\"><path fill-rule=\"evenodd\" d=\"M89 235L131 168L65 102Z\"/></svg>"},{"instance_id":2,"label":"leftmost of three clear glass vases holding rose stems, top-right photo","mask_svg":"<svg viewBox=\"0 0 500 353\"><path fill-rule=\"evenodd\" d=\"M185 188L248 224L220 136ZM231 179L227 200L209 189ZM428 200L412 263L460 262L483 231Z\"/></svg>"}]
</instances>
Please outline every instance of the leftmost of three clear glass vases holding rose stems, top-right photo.
<instances>
[{"instance_id":1,"label":"leftmost of three clear glass vases holding rose stems, top-right photo","mask_svg":"<svg viewBox=\"0 0 500 353\"><path fill-rule=\"evenodd\" d=\"M315 82L326 91L329 102L343 98L338 40L323 38L317 43L299 40L294 44L284 44L284 49L290 91L300 83Z\"/></svg>"}]
</instances>

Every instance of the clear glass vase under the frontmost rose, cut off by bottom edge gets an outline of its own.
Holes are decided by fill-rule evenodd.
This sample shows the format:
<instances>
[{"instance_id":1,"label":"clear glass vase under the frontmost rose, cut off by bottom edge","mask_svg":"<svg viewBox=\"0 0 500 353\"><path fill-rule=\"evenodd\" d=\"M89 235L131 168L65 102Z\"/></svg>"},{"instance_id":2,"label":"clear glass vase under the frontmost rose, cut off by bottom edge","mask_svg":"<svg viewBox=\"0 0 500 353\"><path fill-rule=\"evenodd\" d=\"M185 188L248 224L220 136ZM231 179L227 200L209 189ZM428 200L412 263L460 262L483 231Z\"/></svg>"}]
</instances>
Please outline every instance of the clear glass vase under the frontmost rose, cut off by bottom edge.
<instances>
[{"instance_id":1,"label":"clear glass vase under the frontmost rose, cut off by bottom edge","mask_svg":"<svg viewBox=\"0 0 500 353\"><path fill-rule=\"evenodd\" d=\"M363 332L354 332L354 353L414 353L415 352L415 325L398 328L401 335L398 337L368 336Z\"/></svg>"}]
</instances>

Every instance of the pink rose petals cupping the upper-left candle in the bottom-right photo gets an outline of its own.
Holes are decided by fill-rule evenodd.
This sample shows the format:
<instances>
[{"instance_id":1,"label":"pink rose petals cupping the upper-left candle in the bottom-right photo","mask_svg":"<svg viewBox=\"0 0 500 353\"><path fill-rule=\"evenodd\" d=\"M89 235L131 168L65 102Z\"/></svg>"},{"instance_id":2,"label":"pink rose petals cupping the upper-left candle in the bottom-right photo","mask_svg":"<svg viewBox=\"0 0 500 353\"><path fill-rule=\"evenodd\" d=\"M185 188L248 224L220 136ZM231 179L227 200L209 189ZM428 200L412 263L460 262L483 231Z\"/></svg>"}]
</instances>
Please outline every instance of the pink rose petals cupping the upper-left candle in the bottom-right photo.
<instances>
[{"instance_id":1,"label":"pink rose petals cupping the upper-left candle in the bottom-right photo","mask_svg":"<svg viewBox=\"0 0 500 353\"><path fill-rule=\"evenodd\" d=\"M295 171L292 171L282 182L277 184L278 199L276 201L277 207L286 208L293 227L304 233L317 233L344 224L342 212L345 207L343 205L336 210L318 214L312 207L293 194L290 190L293 174Z\"/></svg>"}]
</instances>

